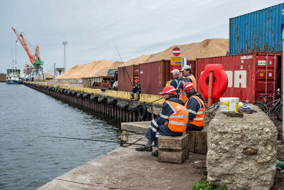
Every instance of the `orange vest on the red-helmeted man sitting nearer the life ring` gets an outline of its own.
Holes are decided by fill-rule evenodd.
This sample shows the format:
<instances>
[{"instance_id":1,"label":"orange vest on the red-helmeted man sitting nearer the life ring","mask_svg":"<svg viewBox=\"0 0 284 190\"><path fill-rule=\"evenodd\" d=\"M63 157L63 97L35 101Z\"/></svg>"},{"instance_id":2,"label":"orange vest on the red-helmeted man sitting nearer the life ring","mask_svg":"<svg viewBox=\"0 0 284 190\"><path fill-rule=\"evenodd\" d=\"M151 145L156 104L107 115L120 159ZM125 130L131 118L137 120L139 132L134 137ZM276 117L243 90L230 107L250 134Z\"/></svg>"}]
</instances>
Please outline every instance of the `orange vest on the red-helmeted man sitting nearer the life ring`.
<instances>
[{"instance_id":1,"label":"orange vest on the red-helmeted man sitting nearer the life ring","mask_svg":"<svg viewBox=\"0 0 284 190\"><path fill-rule=\"evenodd\" d=\"M195 113L195 118L193 120L188 121L191 125L196 125L198 127L204 126L204 118L205 118L205 106L204 102L198 97L197 95L192 95L190 98L196 98L198 102L200 102L200 110L198 112L195 112L193 110L188 110L189 112ZM187 107L187 103L189 102L190 98L188 98L187 102L185 102L185 107Z\"/></svg>"}]
</instances>

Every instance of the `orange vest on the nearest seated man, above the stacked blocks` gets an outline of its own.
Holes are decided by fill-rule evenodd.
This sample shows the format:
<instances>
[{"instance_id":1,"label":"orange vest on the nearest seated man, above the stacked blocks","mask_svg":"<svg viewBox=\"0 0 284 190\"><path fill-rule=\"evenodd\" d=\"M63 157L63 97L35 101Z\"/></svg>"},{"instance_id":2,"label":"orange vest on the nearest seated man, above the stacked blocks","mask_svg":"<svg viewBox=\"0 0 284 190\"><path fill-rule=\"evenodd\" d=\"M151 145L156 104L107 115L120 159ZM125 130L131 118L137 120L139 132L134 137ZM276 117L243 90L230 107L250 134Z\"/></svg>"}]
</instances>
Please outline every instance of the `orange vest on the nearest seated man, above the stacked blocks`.
<instances>
[{"instance_id":1,"label":"orange vest on the nearest seated man, above the stacked blocks","mask_svg":"<svg viewBox=\"0 0 284 190\"><path fill-rule=\"evenodd\" d=\"M165 101L172 107L175 112L173 112L168 117L168 127L173 132L185 132L188 122L188 110L185 106L180 105L178 102L171 102L169 100Z\"/></svg>"}]
</instances>

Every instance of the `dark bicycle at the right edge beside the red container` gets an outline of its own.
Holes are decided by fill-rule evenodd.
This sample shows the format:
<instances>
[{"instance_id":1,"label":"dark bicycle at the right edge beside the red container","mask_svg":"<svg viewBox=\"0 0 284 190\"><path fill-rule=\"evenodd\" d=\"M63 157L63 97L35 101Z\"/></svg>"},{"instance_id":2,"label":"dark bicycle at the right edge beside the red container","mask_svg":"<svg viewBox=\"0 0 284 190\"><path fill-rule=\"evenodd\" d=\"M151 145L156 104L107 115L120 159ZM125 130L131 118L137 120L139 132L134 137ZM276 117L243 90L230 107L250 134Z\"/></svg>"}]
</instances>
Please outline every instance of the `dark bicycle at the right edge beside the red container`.
<instances>
[{"instance_id":1,"label":"dark bicycle at the right edge beside the red container","mask_svg":"<svg viewBox=\"0 0 284 190\"><path fill-rule=\"evenodd\" d=\"M254 105L257 105L261 108L261 111L265 112L267 116L271 114L271 112L276 112L278 120L282 121L282 102L281 102L281 92L280 88L277 89L277 99L273 102L267 103L267 94L263 94L260 97L263 98L262 102L255 102Z\"/></svg>"}]
</instances>

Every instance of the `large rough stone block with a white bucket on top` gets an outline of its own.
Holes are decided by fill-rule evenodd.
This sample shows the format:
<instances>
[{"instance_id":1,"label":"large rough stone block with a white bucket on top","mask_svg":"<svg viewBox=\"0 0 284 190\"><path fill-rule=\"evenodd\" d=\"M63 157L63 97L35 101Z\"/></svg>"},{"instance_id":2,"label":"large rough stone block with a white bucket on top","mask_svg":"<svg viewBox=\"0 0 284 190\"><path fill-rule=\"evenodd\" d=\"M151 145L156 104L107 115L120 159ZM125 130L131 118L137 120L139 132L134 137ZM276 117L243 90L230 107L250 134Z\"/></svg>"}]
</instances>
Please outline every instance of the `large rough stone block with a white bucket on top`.
<instances>
[{"instance_id":1,"label":"large rough stone block with a white bucket on top","mask_svg":"<svg viewBox=\"0 0 284 190\"><path fill-rule=\"evenodd\" d=\"M277 130L258 107L244 117L218 110L207 127L207 181L226 189L271 189Z\"/></svg>"}]
</instances>

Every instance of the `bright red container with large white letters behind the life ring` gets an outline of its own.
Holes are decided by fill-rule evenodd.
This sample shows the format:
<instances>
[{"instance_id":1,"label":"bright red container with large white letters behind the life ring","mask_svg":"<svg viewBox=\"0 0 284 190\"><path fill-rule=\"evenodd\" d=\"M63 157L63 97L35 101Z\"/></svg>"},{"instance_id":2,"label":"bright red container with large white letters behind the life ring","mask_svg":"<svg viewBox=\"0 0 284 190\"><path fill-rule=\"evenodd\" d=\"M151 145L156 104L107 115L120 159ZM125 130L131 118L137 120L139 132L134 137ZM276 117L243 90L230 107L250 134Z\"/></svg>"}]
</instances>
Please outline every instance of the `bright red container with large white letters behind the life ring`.
<instances>
[{"instance_id":1,"label":"bright red container with large white letters behind the life ring","mask_svg":"<svg viewBox=\"0 0 284 190\"><path fill-rule=\"evenodd\" d=\"M207 64L222 64L228 76L228 88L222 97L239 97L246 102L261 101L261 94L276 96L277 80L279 80L278 64L280 53L253 53L214 58L197 58L196 78L197 91L201 93L198 80ZM214 90L214 89L213 89Z\"/></svg>"}]
</instances>

